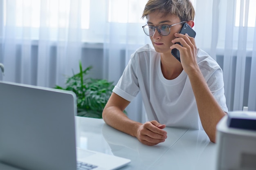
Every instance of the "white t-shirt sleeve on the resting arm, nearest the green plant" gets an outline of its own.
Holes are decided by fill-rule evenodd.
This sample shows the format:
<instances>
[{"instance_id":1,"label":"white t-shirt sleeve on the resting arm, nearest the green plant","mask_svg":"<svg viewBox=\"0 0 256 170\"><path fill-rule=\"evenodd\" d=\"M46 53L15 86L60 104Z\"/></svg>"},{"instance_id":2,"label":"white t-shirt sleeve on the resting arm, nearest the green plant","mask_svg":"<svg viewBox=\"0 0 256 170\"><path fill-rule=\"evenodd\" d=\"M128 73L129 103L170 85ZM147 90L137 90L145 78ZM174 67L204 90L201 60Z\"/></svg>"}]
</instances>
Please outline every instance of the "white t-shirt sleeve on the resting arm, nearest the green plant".
<instances>
[{"instance_id":1,"label":"white t-shirt sleeve on the resting arm, nearest the green plant","mask_svg":"<svg viewBox=\"0 0 256 170\"><path fill-rule=\"evenodd\" d=\"M117 85L114 87L113 92L119 95L120 97L132 101L139 93L139 84L135 72L136 65L136 53L132 54L128 65L124 69L123 75L117 82Z\"/></svg>"}]
</instances>

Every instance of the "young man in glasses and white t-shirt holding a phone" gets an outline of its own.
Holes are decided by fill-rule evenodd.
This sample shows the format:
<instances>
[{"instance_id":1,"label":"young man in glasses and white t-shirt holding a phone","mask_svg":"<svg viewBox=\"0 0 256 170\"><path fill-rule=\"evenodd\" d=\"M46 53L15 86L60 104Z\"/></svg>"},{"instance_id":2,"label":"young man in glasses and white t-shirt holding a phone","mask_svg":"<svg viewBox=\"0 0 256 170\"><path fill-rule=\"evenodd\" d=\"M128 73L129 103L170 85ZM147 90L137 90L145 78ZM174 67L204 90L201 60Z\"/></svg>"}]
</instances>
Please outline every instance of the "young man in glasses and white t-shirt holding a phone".
<instances>
[{"instance_id":1,"label":"young man in glasses and white t-shirt holding a phone","mask_svg":"<svg viewBox=\"0 0 256 170\"><path fill-rule=\"evenodd\" d=\"M228 111L223 75L216 61L197 49L194 38L179 34L184 22L194 26L194 15L189 0L147 2L143 28L153 46L132 54L103 110L106 124L149 146L165 141L166 126L204 129L215 142L216 125ZM171 54L175 48L181 62ZM123 113L139 91L148 119L144 124Z\"/></svg>"}]
</instances>

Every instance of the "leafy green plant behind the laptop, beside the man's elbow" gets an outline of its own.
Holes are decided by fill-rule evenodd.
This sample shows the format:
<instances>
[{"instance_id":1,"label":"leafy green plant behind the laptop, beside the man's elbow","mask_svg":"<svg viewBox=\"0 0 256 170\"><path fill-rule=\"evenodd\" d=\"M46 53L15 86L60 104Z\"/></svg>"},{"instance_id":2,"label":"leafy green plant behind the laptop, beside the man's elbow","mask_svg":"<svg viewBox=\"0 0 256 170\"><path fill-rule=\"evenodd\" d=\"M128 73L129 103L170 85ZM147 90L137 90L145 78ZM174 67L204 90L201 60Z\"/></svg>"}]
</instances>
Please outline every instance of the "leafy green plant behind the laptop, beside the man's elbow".
<instances>
[{"instance_id":1,"label":"leafy green plant behind the laptop, beside the man's elbow","mask_svg":"<svg viewBox=\"0 0 256 170\"><path fill-rule=\"evenodd\" d=\"M79 68L79 73L67 77L65 88L61 86L55 88L76 93L78 116L102 118L103 108L114 88L113 82L88 77L92 66L83 70L82 64L79 62Z\"/></svg>"}]
</instances>

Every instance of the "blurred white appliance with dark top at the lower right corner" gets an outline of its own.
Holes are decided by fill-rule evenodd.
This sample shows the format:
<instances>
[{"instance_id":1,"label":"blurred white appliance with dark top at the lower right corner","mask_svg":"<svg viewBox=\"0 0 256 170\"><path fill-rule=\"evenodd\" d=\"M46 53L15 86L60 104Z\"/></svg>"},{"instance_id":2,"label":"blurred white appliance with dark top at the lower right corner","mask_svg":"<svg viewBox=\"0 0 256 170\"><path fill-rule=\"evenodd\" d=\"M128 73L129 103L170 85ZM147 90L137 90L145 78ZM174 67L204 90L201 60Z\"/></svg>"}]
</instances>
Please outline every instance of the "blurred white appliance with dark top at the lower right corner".
<instances>
[{"instance_id":1,"label":"blurred white appliance with dark top at the lower right corner","mask_svg":"<svg viewBox=\"0 0 256 170\"><path fill-rule=\"evenodd\" d=\"M256 170L256 112L229 112L217 125L216 170Z\"/></svg>"}]
</instances>

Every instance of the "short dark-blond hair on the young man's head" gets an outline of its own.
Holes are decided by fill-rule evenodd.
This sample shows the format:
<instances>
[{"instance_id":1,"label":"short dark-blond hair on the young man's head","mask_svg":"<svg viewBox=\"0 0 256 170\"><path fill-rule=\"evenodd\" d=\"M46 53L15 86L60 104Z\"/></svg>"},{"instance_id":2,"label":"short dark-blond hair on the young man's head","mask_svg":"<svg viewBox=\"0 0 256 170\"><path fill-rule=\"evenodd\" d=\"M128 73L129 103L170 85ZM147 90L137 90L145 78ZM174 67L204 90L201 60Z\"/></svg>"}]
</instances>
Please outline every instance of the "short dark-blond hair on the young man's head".
<instances>
[{"instance_id":1,"label":"short dark-blond hair on the young man's head","mask_svg":"<svg viewBox=\"0 0 256 170\"><path fill-rule=\"evenodd\" d=\"M195 18L195 9L190 0L148 0L141 18L148 19L148 14L156 11L163 13L163 16L175 15L180 21Z\"/></svg>"}]
</instances>

